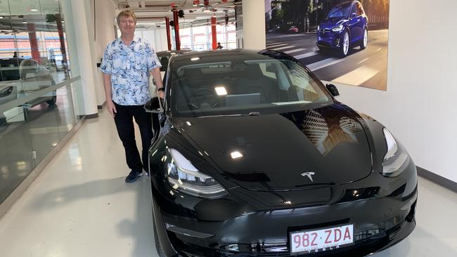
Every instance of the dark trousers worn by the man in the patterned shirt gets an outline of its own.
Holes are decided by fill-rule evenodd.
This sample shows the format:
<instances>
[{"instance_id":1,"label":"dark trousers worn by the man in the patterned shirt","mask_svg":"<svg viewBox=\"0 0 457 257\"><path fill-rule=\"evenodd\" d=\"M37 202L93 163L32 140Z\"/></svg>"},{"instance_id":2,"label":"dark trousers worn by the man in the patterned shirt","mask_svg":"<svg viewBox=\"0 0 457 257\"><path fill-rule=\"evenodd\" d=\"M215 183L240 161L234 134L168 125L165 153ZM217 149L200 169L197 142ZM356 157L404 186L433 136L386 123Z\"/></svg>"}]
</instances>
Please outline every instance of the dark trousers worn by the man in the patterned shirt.
<instances>
[{"instance_id":1,"label":"dark trousers worn by the man in the patterned shirt","mask_svg":"<svg viewBox=\"0 0 457 257\"><path fill-rule=\"evenodd\" d=\"M119 134L122 145L124 145L127 165L134 171L141 171L141 169L149 171L148 150L151 140L153 140L153 124L150 114L143 109L143 105L118 105L115 103L115 106L117 113L115 114L114 119L117 134ZM141 154L143 162L141 162L140 154L136 147L134 122L132 118L135 118L136 124L138 124L140 129L141 143L143 146Z\"/></svg>"}]
</instances>

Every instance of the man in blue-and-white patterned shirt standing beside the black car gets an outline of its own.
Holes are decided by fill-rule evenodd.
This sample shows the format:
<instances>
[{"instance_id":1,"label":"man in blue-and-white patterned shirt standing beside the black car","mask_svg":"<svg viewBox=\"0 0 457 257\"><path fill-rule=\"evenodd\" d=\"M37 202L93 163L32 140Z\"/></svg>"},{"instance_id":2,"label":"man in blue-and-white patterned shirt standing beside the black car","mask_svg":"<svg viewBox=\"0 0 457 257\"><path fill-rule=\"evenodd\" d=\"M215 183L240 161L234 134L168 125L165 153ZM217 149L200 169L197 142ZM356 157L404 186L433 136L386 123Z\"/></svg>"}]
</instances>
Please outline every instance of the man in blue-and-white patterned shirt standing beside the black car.
<instances>
[{"instance_id":1,"label":"man in blue-and-white patterned shirt standing beside the black car","mask_svg":"<svg viewBox=\"0 0 457 257\"><path fill-rule=\"evenodd\" d=\"M106 107L115 120L117 133L124 145L127 165L131 169L126 183L149 175L148 148L153 139L152 121L143 105L150 98L148 75L152 74L160 98L164 88L160 61L150 44L134 35L136 15L131 10L117 15L121 37L106 46L101 70L105 87ZM135 142L133 118L141 133L142 158ZM143 162L141 162L143 159Z\"/></svg>"}]
</instances>

